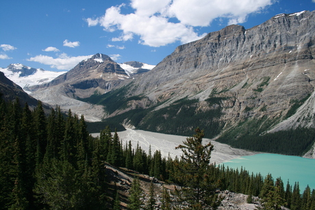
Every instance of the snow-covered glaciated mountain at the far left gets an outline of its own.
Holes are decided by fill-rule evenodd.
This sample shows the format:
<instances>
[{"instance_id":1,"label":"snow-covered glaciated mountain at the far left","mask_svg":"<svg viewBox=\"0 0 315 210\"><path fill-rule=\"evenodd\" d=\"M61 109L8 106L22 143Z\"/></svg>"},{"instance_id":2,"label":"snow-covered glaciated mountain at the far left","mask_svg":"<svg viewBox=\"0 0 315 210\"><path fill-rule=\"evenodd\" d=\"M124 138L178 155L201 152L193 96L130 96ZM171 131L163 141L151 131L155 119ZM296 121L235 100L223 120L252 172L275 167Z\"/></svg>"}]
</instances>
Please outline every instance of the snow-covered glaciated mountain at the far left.
<instances>
[{"instance_id":1,"label":"snow-covered glaciated mountain at the far left","mask_svg":"<svg viewBox=\"0 0 315 210\"><path fill-rule=\"evenodd\" d=\"M23 64L10 64L7 68L0 68L0 71L4 73L5 77L14 81L28 93L29 86L47 83L65 73L43 70L42 68L31 68Z\"/></svg>"}]
</instances>

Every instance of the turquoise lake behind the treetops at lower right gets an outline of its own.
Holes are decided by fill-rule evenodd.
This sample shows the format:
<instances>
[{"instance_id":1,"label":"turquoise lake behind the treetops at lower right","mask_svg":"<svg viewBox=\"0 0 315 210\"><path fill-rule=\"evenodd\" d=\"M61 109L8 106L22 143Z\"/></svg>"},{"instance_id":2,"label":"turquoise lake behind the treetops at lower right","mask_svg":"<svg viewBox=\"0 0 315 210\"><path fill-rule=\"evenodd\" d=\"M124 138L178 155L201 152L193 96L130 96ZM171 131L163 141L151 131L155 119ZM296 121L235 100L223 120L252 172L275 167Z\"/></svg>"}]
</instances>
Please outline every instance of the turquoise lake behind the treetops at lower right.
<instances>
[{"instance_id":1,"label":"turquoise lake behind the treetops at lower right","mask_svg":"<svg viewBox=\"0 0 315 210\"><path fill-rule=\"evenodd\" d=\"M254 174L260 172L263 176L268 173L273 176L273 179L281 177L283 185L289 180L292 188L295 182L299 182L301 194L307 185L311 190L315 189L315 159L307 159L297 156L276 155L276 154L258 154L252 156L243 156L236 159L231 159L224 163L225 168L243 169Z\"/></svg>"}]
</instances>

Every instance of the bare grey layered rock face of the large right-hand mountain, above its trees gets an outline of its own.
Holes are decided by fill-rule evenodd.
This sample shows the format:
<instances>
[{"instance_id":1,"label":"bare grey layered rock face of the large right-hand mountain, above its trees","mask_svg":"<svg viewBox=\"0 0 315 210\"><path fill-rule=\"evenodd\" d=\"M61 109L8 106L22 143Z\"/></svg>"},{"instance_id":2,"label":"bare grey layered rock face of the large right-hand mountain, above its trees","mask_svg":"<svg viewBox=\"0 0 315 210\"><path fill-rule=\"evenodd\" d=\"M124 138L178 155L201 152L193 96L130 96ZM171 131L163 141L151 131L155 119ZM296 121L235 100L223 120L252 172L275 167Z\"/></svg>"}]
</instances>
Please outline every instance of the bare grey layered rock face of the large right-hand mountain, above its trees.
<instances>
[{"instance_id":1,"label":"bare grey layered rock face of the large right-hand mountain, above its trees","mask_svg":"<svg viewBox=\"0 0 315 210\"><path fill-rule=\"evenodd\" d=\"M285 116L314 92L315 12L280 14L251 29L229 25L181 45L135 81L134 94L166 107L220 97L221 122ZM311 111L314 113L314 109Z\"/></svg>"}]
</instances>

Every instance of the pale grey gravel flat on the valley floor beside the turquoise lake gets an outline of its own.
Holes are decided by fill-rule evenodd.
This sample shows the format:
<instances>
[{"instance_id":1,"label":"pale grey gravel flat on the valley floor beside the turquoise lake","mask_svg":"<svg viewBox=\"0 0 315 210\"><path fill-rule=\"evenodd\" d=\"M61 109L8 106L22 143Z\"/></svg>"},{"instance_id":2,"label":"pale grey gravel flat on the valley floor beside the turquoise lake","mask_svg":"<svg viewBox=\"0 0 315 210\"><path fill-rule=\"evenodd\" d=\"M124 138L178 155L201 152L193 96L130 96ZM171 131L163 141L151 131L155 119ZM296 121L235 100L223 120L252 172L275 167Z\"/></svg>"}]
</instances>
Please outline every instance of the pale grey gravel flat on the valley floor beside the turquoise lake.
<instances>
[{"instance_id":1,"label":"pale grey gravel flat on the valley floor beside the turquoise lake","mask_svg":"<svg viewBox=\"0 0 315 210\"><path fill-rule=\"evenodd\" d=\"M92 135L97 136L99 133L92 133ZM181 135L168 135L132 129L118 132L118 136L120 140L123 141L123 144L131 141L133 148L136 148L138 144L147 152L147 154L149 154L149 147L151 145L152 154L155 150L160 150L162 156L167 157L168 154L170 154L172 158L175 156L179 157L181 155L181 150L176 150L175 147L186 140L186 137ZM209 139L203 139L204 143L209 141ZM257 152L232 148L227 144L221 144L216 141L212 141L212 144L214 145L214 150L212 151L211 162L216 164L223 163L237 157L258 154Z\"/></svg>"}]
</instances>

